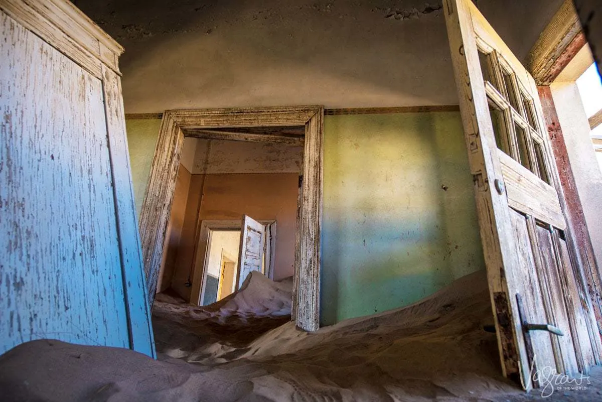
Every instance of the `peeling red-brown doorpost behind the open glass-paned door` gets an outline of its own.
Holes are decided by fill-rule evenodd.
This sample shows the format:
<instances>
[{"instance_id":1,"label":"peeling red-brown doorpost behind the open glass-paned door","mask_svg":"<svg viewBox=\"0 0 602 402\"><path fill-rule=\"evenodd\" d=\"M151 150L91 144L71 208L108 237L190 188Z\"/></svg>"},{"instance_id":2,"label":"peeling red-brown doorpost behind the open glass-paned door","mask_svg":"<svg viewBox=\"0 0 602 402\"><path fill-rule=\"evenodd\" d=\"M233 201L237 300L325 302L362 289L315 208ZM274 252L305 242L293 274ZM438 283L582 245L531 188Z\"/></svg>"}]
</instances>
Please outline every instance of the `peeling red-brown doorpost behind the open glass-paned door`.
<instances>
[{"instance_id":1,"label":"peeling red-brown doorpost behind the open glass-paned door","mask_svg":"<svg viewBox=\"0 0 602 402\"><path fill-rule=\"evenodd\" d=\"M554 162L556 165L558 180L563 191L563 198L560 202L565 203L565 211L569 227L571 228L571 237L569 241L574 243L570 250L579 255L579 258L574 258L577 264L582 266L583 286L589 294L589 304L591 311L597 321L598 329L602 329L602 282L600 275L600 267L594 255L594 246L589 237L588 227L583 214L583 207L577 192L577 185L573 175L573 168L568 158L562 127L554 106L554 99L550 87L538 87L539 99L545 119L548 136L550 138L551 147L553 148ZM571 240L572 239L572 240ZM580 285L581 286L581 285Z\"/></svg>"}]
</instances>

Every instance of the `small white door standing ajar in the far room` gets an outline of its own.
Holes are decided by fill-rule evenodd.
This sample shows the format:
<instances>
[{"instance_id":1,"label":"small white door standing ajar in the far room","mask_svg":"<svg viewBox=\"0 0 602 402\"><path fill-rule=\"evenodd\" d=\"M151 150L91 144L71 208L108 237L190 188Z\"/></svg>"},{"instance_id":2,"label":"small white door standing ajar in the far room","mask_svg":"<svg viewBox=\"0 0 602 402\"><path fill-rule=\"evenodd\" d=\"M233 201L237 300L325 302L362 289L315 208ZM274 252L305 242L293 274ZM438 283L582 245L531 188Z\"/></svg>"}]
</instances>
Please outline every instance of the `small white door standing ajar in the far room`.
<instances>
[{"instance_id":1,"label":"small white door standing ajar in the far room","mask_svg":"<svg viewBox=\"0 0 602 402\"><path fill-rule=\"evenodd\" d=\"M265 226L253 218L243 215L238 251L238 288L243 285L251 271L264 271Z\"/></svg>"}]
</instances>

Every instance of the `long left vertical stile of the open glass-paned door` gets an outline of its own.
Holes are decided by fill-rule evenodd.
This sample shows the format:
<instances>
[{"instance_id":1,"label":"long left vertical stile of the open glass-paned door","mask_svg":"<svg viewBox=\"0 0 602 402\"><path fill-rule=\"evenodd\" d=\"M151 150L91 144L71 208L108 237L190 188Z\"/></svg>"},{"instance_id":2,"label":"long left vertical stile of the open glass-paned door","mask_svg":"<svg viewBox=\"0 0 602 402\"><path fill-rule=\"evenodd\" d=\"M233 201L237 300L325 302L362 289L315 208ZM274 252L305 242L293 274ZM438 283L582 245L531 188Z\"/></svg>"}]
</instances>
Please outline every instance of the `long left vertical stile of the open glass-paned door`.
<instances>
[{"instance_id":1,"label":"long left vertical stile of the open glass-paned door","mask_svg":"<svg viewBox=\"0 0 602 402\"><path fill-rule=\"evenodd\" d=\"M525 363L526 350L522 328L517 320L516 303L510 301L514 299L514 294L509 297L509 288L514 288L515 282L513 270L519 264L518 253L506 197L497 194L493 188L495 179L502 179L501 164L495 157L495 137L480 70L471 7L474 6L466 0L444 1L445 22L468 161L475 183L477 215L494 306L502 372L518 382L520 373L529 371Z\"/></svg>"}]
</instances>

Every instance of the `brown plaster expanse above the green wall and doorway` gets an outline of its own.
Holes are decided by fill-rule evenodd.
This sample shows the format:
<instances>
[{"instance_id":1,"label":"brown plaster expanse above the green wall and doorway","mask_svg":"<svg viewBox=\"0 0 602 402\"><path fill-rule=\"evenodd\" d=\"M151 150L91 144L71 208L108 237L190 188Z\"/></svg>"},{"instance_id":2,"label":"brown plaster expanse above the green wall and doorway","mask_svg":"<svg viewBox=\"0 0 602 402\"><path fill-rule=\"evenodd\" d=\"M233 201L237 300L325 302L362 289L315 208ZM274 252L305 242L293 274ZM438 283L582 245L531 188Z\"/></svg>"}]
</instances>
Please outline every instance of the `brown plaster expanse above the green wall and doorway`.
<instances>
[{"instance_id":1,"label":"brown plaster expanse above the green wall and doorway","mask_svg":"<svg viewBox=\"0 0 602 402\"><path fill-rule=\"evenodd\" d=\"M524 60L562 0L477 0ZM78 0L125 46L126 113L457 104L441 2Z\"/></svg>"}]
</instances>

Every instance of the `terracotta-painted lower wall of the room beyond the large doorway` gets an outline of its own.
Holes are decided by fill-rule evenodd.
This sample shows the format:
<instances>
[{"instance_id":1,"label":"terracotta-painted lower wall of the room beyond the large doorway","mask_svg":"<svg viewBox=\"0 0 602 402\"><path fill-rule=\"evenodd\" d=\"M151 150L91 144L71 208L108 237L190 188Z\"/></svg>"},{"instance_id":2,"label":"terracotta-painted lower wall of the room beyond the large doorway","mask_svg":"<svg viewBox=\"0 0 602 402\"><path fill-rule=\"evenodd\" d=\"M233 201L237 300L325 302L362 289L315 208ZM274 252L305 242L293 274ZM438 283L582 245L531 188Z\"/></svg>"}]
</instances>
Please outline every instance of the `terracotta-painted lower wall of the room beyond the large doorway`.
<instances>
[{"instance_id":1,"label":"terracotta-painted lower wall of the room beyond the large doorway","mask_svg":"<svg viewBox=\"0 0 602 402\"><path fill-rule=\"evenodd\" d=\"M181 179L178 175L161 290L169 287L169 283L179 295L190 300L191 288L185 283L194 264L200 221L239 220L243 214L256 220L276 220L274 279L293 275L297 173L190 175L182 167L180 172L188 178ZM185 188L188 193L184 202Z\"/></svg>"}]
</instances>

